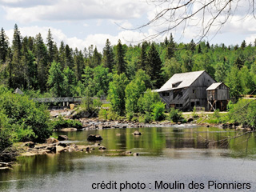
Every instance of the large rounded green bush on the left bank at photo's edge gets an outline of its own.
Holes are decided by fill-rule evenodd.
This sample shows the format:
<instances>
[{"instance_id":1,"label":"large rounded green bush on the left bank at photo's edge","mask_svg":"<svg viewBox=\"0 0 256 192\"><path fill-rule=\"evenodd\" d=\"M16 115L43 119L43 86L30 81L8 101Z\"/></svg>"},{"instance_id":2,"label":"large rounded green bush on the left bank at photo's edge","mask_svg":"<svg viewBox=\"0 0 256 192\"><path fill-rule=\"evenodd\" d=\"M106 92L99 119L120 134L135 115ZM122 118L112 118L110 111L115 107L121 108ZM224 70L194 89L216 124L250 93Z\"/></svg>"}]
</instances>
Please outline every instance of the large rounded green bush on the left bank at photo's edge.
<instances>
[{"instance_id":1,"label":"large rounded green bush on the left bank at photo's edge","mask_svg":"<svg viewBox=\"0 0 256 192\"><path fill-rule=\"evenodd\" d=\"M33 102L26 96L2 94L0 108L8 118L15 141L43 142L52 133L50 114L46 106Z\"/></svg>"}]
</instances>

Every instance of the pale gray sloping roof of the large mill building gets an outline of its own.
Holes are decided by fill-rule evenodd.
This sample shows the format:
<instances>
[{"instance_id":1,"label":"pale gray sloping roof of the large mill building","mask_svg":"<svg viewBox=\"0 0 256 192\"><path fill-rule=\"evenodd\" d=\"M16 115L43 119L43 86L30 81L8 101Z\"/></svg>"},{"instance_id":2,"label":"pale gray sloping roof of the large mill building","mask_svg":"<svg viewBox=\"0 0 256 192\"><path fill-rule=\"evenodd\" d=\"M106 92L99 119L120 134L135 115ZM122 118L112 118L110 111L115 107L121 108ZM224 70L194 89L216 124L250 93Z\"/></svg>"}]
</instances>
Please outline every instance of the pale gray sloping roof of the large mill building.
<instances>
[{"instance_id":1,"label":"pale gray sloping roof of the large mill building","mask_svg":"<svg viewBox=\"0 0 256 192\"><path fill-rule=\"evenodd\" d=\"M176 90L190 86L205 70L187 72L182 74L174 74L157 92L164 90ZM173 84L181 82L178 86L173 87Z\"/></svg>"}]
</instances>

